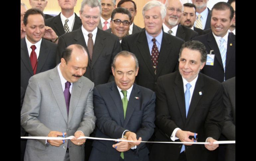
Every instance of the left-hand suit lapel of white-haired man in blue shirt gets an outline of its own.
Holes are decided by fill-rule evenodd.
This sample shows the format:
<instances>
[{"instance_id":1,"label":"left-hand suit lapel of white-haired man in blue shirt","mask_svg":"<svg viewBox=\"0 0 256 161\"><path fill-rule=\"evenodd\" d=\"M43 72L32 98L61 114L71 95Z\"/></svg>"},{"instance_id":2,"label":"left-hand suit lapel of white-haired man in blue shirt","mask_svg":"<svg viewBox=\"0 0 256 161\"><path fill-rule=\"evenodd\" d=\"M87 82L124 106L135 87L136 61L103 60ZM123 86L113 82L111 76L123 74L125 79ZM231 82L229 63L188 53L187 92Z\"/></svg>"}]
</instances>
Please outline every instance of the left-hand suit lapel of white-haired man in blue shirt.
<instances>
[{"instance_id":1,"label":"left-hand suit lapel of white-haired man in blue shirt","mask_svg":"<svg viewBox=\"0 0 256 161\"><path fill-rule=\"evenodd\" d=\"M140 54L143 57L144 62L146 64L146 66L148 67L150 73L155 77L155 71L153 69L153 62L151 60L150 50L149 50L148 40L146 37L145 30L144 30L144 32L141 32L139 35L137 47L139 48Z\"/></svg>"}]
</instances>

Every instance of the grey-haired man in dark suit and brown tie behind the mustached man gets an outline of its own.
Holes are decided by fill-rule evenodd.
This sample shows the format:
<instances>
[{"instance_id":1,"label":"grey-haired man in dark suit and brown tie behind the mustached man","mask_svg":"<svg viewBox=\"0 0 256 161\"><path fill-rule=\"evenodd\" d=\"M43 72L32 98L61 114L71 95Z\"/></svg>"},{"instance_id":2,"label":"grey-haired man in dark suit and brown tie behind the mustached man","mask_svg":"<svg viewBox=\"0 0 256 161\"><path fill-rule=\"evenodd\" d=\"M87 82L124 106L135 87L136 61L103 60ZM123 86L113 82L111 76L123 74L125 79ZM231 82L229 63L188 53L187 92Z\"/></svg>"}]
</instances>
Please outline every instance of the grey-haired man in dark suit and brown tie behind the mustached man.
<instances>
[{"instance_id":1,"label":"grey-haired man in dark suit and brown tie behind the mustached man","mask_svg":"<svg viewBox=\"0 0 256 161\"><path fill-rule=\"evenodd\" d=\"M56 61L60 62L61 53L66 46L80 44L90 55L84 76L95 85L107 83L112 75L112 60L120 52L119 39L97 28L101 14L101 5L98 0L83 0L79 12L82 26L59 38Z\"/></svg>"}]
</instances>

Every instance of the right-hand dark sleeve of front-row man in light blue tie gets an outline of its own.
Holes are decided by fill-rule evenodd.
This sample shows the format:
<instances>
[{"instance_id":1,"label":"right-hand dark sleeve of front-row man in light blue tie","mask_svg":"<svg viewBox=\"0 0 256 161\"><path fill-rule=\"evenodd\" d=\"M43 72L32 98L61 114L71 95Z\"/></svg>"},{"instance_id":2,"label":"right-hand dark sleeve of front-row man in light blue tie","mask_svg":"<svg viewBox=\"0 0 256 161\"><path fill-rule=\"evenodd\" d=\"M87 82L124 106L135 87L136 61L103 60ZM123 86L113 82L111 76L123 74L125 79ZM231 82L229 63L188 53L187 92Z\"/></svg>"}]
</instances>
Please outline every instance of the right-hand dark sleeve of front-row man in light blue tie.
<instances>
[{"instance_id":1,"label":"right-hand dark sleeve of front-row man in light blue tie","mask_svg":"<svg viewBox=\"0 0 256 161\"><path fill-rule=\"evenodd\" d=\"M219 139L224 121L223 112L223 86L219 85L218 90L210 103L209 111L204 123L205 135L215 140Z\"/></svg>"}]
</instances>

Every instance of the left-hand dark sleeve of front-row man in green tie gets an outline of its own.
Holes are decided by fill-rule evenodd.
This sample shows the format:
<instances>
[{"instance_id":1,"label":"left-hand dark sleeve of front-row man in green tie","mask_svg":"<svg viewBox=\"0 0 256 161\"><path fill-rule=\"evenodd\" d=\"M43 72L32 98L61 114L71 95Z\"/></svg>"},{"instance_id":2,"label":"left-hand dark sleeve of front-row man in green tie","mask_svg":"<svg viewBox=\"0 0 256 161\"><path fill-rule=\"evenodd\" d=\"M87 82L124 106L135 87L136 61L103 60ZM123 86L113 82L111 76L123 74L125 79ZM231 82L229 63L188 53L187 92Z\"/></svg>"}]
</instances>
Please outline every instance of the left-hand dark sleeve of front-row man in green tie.
<instances>
[{"instance_id":1,"label":"left-hand dark sleeve of front-row man in green tie","mask_svg":"<svg viewBox=\"0 0 256 161\"><path fill-rule=\"evenodd\" d=\"M96 125L99 130L110 138L120 138L126 129L111 119L105 101L101 97L97 87L93 91L93 106L94 114L97 118Z\"/></svg>"}]
</instances>

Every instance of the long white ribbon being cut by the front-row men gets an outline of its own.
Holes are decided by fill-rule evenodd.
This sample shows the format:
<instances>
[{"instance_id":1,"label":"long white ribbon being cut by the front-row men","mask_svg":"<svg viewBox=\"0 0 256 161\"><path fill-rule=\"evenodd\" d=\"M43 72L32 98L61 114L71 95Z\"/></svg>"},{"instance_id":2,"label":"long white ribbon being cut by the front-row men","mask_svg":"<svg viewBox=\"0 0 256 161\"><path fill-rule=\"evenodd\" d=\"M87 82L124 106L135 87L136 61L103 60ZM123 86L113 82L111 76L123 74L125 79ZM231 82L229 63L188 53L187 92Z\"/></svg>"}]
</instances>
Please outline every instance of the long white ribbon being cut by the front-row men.
<instances>
[{"instance_id":1,"label":"long white ribbon being cut by the front-row men","mask_svg":"<svg viewBox=\"0 0 256 161\"><path fill-rule=\"evenodd\" d=\"M42 140L69 140L74 138L74 136L69 137L44 137L44 136L23 136L21 139L42 139ZM171 143L171 144L209 144L209 142L171 142L171 141L130 141L123 139L109 139L109 138L99 138L99 137L88 137L81 136L77 139L94 139L94 140L110 140L110 141L126 141L126 142L150 142L150 143ZM213 144L235 144L236 141L214 141Z\"/></svg>"}]
</instances>

